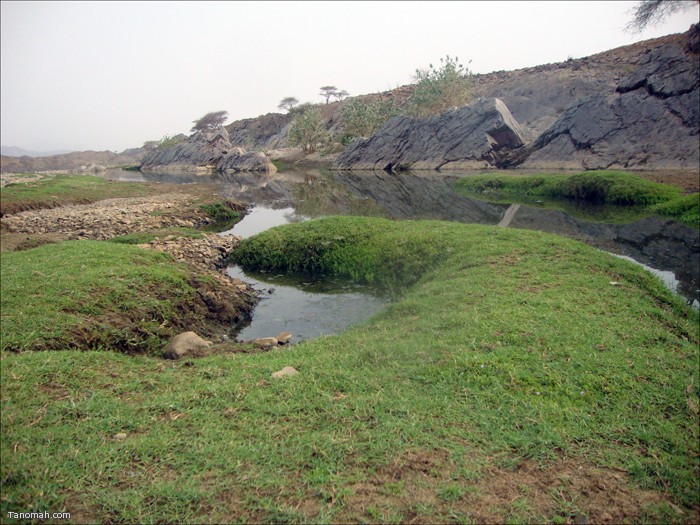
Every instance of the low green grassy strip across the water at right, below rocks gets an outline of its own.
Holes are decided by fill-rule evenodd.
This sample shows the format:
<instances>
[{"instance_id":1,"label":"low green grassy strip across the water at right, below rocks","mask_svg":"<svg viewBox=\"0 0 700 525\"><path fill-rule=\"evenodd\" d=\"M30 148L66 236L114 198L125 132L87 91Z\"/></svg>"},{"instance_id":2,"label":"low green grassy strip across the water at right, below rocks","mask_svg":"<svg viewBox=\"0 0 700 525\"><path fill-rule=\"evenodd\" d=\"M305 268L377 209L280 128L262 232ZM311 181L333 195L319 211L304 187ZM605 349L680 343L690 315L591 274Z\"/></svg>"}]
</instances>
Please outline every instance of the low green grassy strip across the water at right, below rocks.
<instances>
[{"instance_id":1,"label":"low green grassy strip across the water at right, below rocks","mask_svg":"<svg viewBox=\"0 0 700 525\"><path fill-rule=\"evenodd\" d=\"M465 194L489 198L542 198L569 202L636 207L640 213L659 214L700 228L700 194L682 195L679 187L618 171L576 174L481 174L457 182Z\"/></svg>"}]
</instances>

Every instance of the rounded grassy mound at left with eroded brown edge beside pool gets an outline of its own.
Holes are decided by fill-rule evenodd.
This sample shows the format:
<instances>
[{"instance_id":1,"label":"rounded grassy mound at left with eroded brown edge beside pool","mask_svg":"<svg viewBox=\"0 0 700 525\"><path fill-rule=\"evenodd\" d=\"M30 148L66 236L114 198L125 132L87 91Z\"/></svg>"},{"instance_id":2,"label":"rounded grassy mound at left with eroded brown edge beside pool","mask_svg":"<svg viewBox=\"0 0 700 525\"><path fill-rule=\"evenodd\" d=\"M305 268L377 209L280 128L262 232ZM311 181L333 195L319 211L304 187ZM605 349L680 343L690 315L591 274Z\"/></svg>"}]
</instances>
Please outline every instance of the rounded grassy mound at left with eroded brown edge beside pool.
<instances>
[{"instance_id":1,"label":"rounded grassy mound at left with eroded brown edge beside pool","mask_svg":"<svg viewBox=\"0 0 700 525\"><path fill-rule=\"evenodd\" d=\"M150 352L240 315L213 279L125 244L45 245L3 254L1 268L2 350Z\"/></svg>"}]
</instances>

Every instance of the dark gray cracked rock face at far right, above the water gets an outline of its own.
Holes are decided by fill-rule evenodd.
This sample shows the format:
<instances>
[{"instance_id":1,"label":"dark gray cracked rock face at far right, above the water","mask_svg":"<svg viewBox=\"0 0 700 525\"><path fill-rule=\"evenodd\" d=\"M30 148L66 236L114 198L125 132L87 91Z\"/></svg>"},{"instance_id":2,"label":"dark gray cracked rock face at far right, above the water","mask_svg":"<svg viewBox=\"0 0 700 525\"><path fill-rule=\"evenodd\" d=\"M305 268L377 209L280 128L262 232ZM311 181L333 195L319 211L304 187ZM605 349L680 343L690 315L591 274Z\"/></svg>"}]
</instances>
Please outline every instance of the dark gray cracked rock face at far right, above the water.
<instances>
[{"instance_id":1,"label":"dark gray cracked rock face at far right, above the water","mask_svg":"<svg viewBox=\"0 0 700 525\"><path fill-rule=\"evenodd\" d=\"M654 49L615 93L578 100L528 148L523 168L697 168L697 55ZM515 161L518 163L518 161Z\"/></svg>"}]
</instances>

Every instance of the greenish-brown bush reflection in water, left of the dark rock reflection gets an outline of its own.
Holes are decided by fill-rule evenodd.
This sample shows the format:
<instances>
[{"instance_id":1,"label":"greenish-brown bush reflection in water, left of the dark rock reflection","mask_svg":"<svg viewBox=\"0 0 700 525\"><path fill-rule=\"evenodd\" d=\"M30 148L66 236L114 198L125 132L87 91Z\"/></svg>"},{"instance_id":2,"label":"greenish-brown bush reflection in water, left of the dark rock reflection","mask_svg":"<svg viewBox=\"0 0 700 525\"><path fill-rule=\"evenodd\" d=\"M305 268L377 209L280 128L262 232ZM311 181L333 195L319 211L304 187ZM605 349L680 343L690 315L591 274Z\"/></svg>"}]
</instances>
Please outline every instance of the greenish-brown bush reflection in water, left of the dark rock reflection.
<instances>
[{"instance_id":1,"label":"greenish-brown bush reflection in water, left of the dark rock reflection","mask_svg":"<svg viewBox=\"0 0 700 525\"><path fill-rule=\"evenodd\" d=\"M304 182L294 185L292 195L297 215L386 217L386 213L374 199L351 192L328 170L311 170L305 173Z\"/></svg>"}]
</instances>

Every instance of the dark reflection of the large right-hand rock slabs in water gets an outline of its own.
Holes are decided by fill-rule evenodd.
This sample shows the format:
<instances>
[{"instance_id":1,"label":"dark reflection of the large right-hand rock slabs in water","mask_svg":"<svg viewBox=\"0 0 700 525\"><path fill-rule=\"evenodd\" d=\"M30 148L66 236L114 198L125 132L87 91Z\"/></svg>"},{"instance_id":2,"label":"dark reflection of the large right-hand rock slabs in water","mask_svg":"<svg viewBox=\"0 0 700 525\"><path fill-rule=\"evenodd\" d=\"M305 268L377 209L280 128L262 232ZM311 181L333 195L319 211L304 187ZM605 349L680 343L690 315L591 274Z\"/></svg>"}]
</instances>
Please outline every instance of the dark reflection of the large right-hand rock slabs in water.
<instances>
[{"instance_id":1,"label":"dark reflection of the large right-hand rock slabs in water","mask_svg":"<svg viewBox=\"0 0 700 525\"><path fill-rule=\"evenodd\" d=\"M456 178L445 175L353 171L336 172L333 177L357 194L371 197L395 219L496 224L508 208L507 204L460 196L453 188ZM681 283L680 293L700 300L700 234L682 224L656 217L631 224L603 224L558 210L522 205L509 226L564 235L672 271Z\"/></svg>"}]
</instances>

